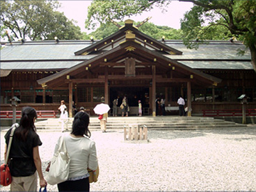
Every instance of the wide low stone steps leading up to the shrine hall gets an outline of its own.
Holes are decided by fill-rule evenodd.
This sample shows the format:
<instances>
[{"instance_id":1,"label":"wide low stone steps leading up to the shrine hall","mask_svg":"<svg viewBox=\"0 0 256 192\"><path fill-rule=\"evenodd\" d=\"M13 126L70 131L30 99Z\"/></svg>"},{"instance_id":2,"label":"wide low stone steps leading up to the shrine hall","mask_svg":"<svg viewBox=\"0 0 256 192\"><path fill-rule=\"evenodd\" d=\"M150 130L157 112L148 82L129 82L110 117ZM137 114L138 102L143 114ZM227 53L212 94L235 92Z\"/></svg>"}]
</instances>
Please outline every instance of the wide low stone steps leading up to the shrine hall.
<instances>
[{"instance_id":1,"label":"wide low stone steps leading up to the shrine hall","mask_svg":"<svg viewBox=\"0 0 256 192\"><path fill-rule=\"evenodd\" d=\"M70 118L67 127L72 128L73 119ZM107 129L122 129L129 124L146 125L150 130L195 130L195 129L220 129L241 128L246 125L237 124L211 117L188 116L143 116L143 117L109 117L106 123ZM35 123L36 128L45 130L60 130L59 119L47 119ZM100 124L97 117L90 118L90 130L99 130Z\"/></svg>"}]
</instances>

